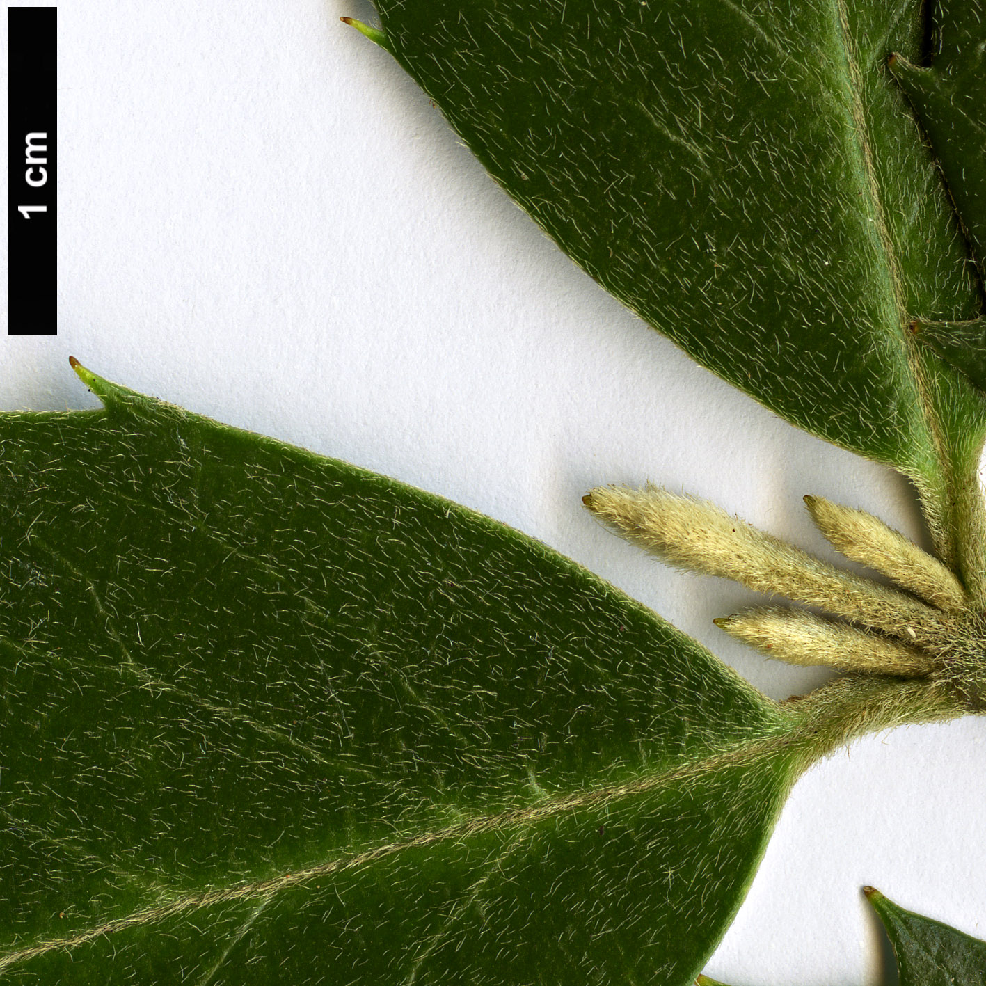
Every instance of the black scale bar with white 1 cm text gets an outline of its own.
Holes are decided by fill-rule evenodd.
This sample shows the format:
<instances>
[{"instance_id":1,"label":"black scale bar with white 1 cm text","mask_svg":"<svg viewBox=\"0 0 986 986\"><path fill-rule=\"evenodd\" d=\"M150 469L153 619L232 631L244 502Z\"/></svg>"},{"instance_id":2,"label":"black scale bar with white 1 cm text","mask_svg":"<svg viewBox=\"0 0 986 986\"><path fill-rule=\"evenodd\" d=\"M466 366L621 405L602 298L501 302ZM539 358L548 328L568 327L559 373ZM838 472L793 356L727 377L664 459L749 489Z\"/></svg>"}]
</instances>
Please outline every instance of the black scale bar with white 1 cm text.
<instances>
[{"instance_id":1,"label":"black scale bar with white 1 cm text","mask_svg":"<svg viewBox=\"0 0 986 986\"><path fill-rule=\"evenodd\" d=\"M56 335L56 7L8 7L7 334Z\"/></svg>"}]
</instances>

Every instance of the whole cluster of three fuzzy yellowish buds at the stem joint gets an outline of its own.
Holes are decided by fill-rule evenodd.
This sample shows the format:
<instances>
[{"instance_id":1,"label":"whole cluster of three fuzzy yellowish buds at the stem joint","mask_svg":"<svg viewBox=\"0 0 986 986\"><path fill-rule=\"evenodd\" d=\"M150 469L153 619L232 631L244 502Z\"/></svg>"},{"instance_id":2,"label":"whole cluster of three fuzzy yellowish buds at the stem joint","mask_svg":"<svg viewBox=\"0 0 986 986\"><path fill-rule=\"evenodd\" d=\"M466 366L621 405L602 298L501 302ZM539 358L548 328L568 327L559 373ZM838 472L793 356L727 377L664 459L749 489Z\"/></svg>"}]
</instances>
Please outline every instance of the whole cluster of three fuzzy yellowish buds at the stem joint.
<instances>
[{"instance_id":1,"label":"whole cluster of three fuzzy yellowish buds at the stem joint","mask_svg":"<svg viewBox=\"0 0 986 986\"><path fill-rule=\"evenodd\" d=\"M871 514L805 497L832 546L893 587L829 565L712 504L655 486L601 487L583 503L672 565L830 614L771 605L716 620L769 657L925 678L957 694L970 711L986 710L986 613L942 562Z\"/></svg>"}]
</instances>

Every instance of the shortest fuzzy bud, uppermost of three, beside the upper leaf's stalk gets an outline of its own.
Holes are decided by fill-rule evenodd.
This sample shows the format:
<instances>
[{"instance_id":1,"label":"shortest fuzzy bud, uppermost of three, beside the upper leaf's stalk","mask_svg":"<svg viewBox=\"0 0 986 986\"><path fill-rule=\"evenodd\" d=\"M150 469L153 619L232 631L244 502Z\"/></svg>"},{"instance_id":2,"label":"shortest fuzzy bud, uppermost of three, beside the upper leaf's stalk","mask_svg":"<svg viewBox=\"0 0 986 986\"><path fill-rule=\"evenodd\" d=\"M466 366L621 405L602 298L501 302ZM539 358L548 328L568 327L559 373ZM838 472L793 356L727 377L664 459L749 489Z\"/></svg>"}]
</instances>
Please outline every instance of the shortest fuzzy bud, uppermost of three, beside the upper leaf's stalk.
<instances>
[{"instance_id":1,"label":"shortest fuzzy bud, uppermost of three, beside the upper leaf's stalk","mask_svg":"<svg viewBox=\"0 0 986 986\"><path fill-rule=\"evenodd\" d=\"M951 571L879 518L822 497L807 496L805 504L815 526L847 558L881 572L901 589L946 612L967 607L962 584Z\"/></svg>"}]
</instances>

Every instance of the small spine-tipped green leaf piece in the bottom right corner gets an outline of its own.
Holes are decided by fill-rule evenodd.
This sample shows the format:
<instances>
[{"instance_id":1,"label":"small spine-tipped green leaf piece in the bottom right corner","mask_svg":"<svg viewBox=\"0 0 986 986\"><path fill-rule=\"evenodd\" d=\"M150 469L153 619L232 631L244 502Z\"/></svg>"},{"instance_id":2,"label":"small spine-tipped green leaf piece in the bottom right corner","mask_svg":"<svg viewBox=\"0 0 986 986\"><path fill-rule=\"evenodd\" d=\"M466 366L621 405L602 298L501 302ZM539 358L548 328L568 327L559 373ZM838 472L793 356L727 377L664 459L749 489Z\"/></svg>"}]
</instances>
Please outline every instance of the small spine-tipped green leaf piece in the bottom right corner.
<instances>
[{"instance_id":1,"label":"small spine-tipped green leaf piece in the bottom right corner","mask_svg":"<svg viewBox=\"0 0 986 986\"><path fill-rule=\"evenodd\" d=\"M893 946L900 986L986 986L986 942L905 911L872 886L866 895Z\"/></svg>"}]
</instances>

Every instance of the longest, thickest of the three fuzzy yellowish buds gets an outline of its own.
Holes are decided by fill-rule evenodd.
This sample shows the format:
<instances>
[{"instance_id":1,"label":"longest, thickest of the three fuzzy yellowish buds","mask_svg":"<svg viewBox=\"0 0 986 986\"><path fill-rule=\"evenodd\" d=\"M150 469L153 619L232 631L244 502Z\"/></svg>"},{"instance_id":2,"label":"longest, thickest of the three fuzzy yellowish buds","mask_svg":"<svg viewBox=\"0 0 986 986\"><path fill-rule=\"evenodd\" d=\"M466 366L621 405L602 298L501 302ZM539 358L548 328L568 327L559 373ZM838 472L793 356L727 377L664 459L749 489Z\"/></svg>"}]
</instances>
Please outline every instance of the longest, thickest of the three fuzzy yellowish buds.
<instances>
[{"instance_id":1,"label":"longest, thickest of the three fuzzy yellowish buds","mask_svg":"<svg viewBox=\"0 0 986 986\"><path fill-rule=\"evenodd\" d=\"M583 503L672 565L817 606L918 647L935 649L948 634L941 610L843 572L705 501L648 485L598 487Z\"/></svg>"}]
</instances>

